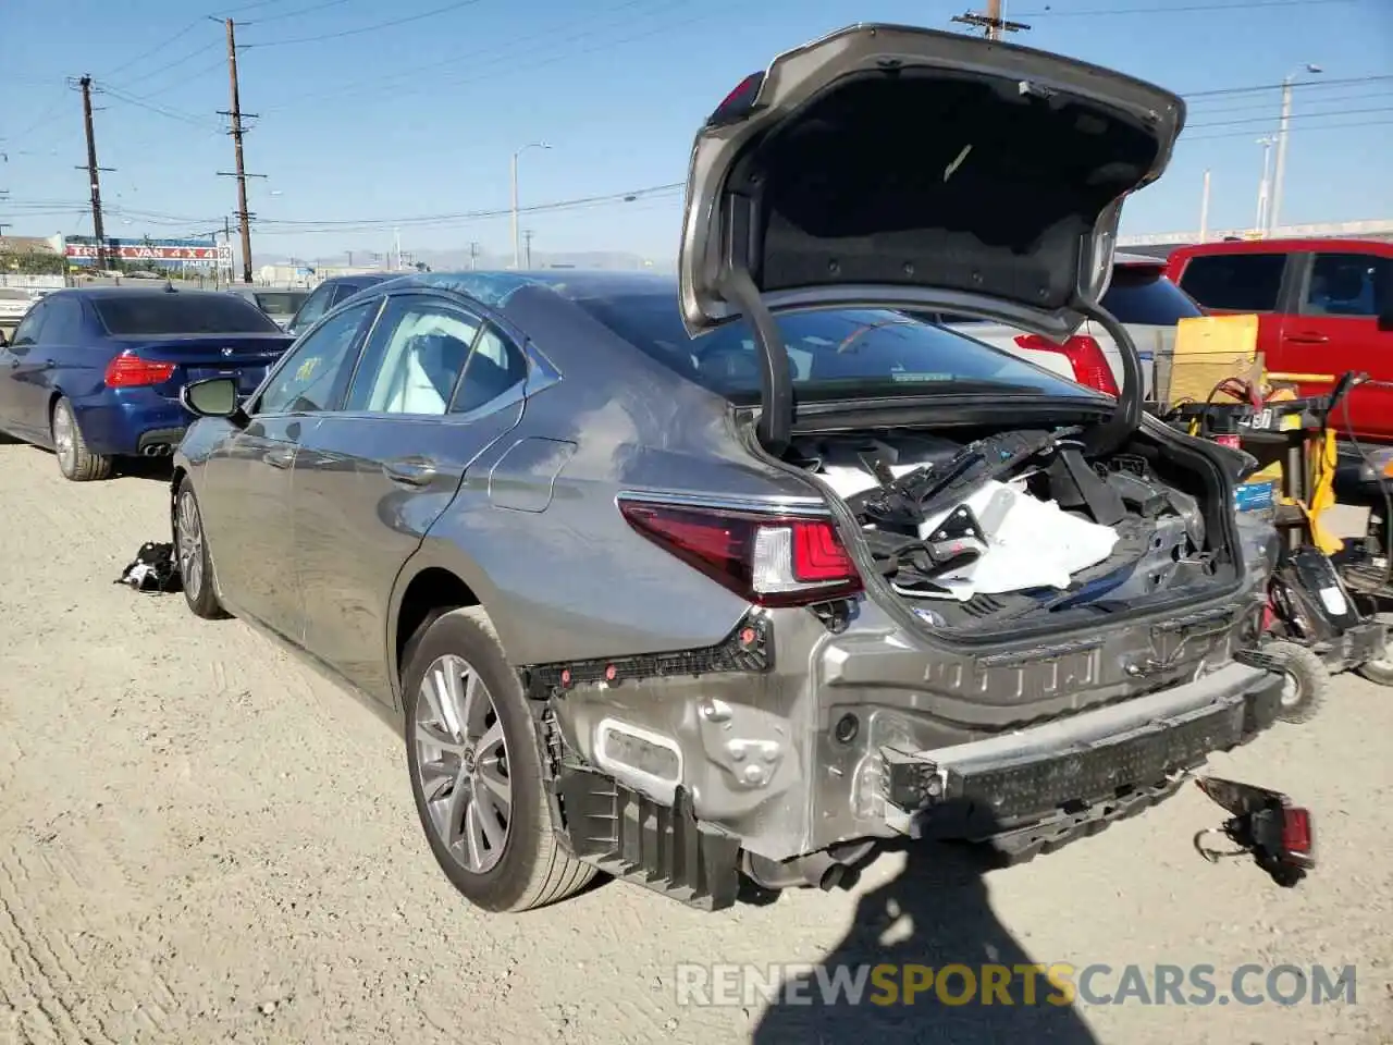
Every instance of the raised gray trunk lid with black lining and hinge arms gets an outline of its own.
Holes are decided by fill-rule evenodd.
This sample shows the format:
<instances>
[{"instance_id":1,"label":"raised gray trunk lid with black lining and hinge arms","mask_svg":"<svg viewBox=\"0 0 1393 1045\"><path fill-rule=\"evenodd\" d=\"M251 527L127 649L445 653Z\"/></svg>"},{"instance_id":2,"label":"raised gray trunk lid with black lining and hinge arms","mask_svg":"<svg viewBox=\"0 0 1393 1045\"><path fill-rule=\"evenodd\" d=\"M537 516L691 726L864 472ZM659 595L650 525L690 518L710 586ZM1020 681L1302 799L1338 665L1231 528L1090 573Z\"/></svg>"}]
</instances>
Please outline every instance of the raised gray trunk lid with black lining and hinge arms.
<instances>
[{"instance_id":1,"label":"raised gray trunk lid with black lining and hinge arms","mask_svg":"<svg viewBox=\"0 0 1393 1045\"><path fill-rule=\"evenodd\" d=\"M1110 70L929 29L853 25L786 52L696 135L683 322L748 319L776 453L793 419L779 311L937 308L1061 340L1105 315L1123 199L1162 174L1184 113ZM1141 418L1120 347L1119 433Z\"/></svg>"}]
</instances>

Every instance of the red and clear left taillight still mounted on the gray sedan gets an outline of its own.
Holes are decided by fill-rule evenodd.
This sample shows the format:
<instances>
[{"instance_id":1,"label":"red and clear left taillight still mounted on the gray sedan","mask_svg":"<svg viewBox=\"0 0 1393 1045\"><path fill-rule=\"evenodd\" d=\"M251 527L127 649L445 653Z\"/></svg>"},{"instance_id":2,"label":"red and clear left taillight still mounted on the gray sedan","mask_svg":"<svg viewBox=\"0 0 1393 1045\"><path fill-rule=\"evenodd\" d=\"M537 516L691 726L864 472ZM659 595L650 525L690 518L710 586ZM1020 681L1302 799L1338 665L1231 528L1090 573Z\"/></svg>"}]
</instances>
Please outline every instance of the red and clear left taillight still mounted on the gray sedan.
<instances>
[{"instance_id":1,"label":"red and clear left taillight still mounted on the gray sedan","mask_svg":"<svg viewBox=\"0 0 1393 1045\"><path fill-rule=\"evenodd\" d=\"M759 606L855 595L861 577L830 520L620 502L639 534Z\"/></svg>"}]
</instances>

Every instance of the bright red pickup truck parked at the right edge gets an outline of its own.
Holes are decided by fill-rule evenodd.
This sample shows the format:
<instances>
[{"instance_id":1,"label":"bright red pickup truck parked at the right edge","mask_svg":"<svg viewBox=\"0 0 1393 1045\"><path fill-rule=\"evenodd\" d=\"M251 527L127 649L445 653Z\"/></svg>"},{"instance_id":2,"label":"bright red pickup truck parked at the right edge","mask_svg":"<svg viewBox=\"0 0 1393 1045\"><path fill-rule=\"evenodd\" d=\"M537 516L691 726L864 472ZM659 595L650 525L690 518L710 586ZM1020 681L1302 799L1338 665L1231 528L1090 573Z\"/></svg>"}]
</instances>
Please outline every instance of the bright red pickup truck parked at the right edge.
<instances>
[{"instance_id":1,"label":"bright red pickup truck parked at the right edge","mask_svg":"<svg viewBox=\"0 0 1393 1045\"><path fill-rule=\"evenodd\" d=\"M1243 240L1174 251L1166 274L1212 314L1255 312L1268 371L1302 375L1301 393L1330 392L1346 371L1387 386L1350 393L1333 418L1361 443L1393 444L1393 242Z\"/></svg>"}]
</instances>

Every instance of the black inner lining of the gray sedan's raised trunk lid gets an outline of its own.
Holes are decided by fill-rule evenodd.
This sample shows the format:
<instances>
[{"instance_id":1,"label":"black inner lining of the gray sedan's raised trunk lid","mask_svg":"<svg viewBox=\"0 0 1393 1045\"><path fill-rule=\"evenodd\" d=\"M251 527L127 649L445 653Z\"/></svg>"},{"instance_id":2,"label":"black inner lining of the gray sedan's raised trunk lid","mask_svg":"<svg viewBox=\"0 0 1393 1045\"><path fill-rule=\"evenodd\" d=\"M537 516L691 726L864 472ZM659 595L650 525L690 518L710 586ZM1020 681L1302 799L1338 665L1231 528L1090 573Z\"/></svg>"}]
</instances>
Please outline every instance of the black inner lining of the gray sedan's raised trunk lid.
<instances>
[{"instance_id":1,"label":"black inner lining of the gray sedan's raised trunk lid","mask_svg":"<svg viewBox=\"0 0 1393 1045\"><path fill-rule=\"evenodd\" d=\"M1057 309L1099 215L1159 148L1120 111L1015 79L858 72L754 142L729 188L756 201L766 293L932 284Z\"/></svg>"}]
</instances>

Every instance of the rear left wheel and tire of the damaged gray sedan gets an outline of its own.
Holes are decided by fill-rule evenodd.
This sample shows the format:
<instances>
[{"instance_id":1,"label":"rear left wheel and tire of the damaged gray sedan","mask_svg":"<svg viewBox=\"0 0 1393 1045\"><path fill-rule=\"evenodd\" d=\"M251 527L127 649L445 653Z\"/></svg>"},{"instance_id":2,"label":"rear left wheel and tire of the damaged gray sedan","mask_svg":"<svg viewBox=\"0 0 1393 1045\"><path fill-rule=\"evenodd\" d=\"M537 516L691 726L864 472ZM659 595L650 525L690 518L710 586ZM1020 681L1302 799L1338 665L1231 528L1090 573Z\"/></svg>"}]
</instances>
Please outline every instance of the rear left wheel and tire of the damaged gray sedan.
<instances>
[{"instance_id":1,"label":"rear left wheel and tire of the damaged gray sedan","mask_svg":"<svg viewBox=\"0 0 1393 1045\"><path fill-rule=\"evenodd\" d=\"M536 720L483 610L426 620L403 665L411 796L454 888L485 911L517 913L589 883L595 868L553 830Z\"/></svg>"}]
</instances>

